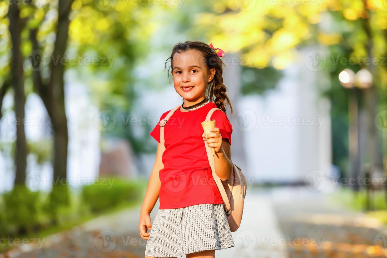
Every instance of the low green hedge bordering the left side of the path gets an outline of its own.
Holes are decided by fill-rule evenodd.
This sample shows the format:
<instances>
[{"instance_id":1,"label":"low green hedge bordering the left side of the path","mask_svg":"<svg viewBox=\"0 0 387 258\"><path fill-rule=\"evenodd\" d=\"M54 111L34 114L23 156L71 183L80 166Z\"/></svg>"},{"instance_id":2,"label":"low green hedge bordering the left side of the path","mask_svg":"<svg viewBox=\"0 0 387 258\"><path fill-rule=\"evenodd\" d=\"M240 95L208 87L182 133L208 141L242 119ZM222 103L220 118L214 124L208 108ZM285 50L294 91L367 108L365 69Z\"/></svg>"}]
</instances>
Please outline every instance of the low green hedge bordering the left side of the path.
<instances>
[{"instance_id":1,"label":"low green hedge bordering the left side of the path","mask_svg":"<svg viewBox=\"0 0 387 258\"><path fill-rule=\"evenodd\" d=\"M102 182L102 181L100 181ZM42 230L60 230L102 212L139 203L146 191L146 182L111 178L111 185L86 185L70 188L69 203L50 204L50 193L33 192L25 186L15 186L0 195L0 237L23 237ZM63 191L64 188L58 188ZM53 210L55 209L55 210ZM0 253L5 246L0 246Z\"/></svg>"}]
</instances>

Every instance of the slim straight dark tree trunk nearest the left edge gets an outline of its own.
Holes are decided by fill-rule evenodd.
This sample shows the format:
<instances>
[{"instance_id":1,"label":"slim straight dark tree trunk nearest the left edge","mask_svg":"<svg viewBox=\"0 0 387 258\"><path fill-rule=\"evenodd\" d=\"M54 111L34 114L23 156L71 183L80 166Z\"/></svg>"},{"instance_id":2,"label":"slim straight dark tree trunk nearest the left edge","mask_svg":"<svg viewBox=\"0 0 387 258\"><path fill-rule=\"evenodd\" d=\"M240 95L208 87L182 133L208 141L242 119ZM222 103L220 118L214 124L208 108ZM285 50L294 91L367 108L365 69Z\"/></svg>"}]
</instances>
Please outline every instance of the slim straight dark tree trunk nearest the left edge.
<instances>
[{"instance_id":1,"label":"slim straight dark tree trunk nearest the left edge","mask_svg":"<svg viewBox=\"0 0 387 258\"><path fill-rule=\"evenodd\" d=\"M9 31L12 39L11 84L15 91L16 148L15 148L15 185L24 185L27 167L27 144L24 131L23 58L20 51L21 31L25 20L20 18L19 5L9 5Z\"/></svg>"}]
</instances>

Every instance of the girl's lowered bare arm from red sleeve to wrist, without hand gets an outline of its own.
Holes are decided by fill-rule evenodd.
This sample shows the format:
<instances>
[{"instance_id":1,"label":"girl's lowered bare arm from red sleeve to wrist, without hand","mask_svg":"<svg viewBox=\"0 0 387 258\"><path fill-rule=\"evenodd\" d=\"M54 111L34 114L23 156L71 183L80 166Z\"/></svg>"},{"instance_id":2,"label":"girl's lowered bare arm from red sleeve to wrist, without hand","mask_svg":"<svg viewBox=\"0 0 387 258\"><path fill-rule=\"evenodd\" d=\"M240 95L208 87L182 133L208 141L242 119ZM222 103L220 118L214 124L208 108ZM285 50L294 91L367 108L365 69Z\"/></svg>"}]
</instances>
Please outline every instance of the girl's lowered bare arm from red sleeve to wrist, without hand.
<instances>
[{"instance_id":1,"label":"girl's lowered bare arm from red sleeve to wrist, without hand","mask_svg":"<svg viewBox=\"0 0 387 258\"><path fill-rule=\"evenodd\" d=\"M164 150L165 147L161 146L161 144L159 143L157 146L156 160L154 161L151 176L149 177L148 187L145 193L144 202L142 203L140 213L150 214L154 205L157 202L157 199L159 198L161 186L159 171L160 169L164 168L164 164L161 161L161 156L163 155Z\"/></svg>"}]
</instances>

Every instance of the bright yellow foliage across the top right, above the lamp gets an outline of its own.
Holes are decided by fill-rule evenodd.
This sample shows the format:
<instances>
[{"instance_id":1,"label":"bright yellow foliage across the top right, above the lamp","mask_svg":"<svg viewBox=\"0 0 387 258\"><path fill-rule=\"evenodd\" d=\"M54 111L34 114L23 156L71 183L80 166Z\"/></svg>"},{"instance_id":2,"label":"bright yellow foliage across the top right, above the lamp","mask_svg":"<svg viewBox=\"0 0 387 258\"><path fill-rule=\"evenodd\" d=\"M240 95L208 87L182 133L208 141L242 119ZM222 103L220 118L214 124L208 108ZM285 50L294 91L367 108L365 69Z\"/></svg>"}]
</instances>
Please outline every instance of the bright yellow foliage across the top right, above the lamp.
<instances>
[{"instance_id":1,"label":"bright yellow foliage across the top right, above the lamp","mask_svg":"<svg viewBox=\"0 0 387 258\"><path fill-rule=\"evenodd\" d=\"M381 9L380 3L385 0L311 0L299 1L255 1L255 7L248 12L240 8L240 0L223 0L214 4L214 14L198 14L198 27L206 28L204 35L209 42L219 44L224 51L242 50L243 56L253 58L253 66L264 68L272 65L276 69L284 69L292 62L295 47L305 39L317 38L322 45L334 45L342 42L353 46L351 57L366 56L366 35L360 24L355 22L359 18L370 18L373 31L373 53L383 56L386 40L381 30L387 29L387 15ZM223 14L224 5L231 10ZM374 8L374 7L377 8ZM383 7L383 6L382 6ZM373 10L374 8L374 10ZM386 8L387 9L387 8ZM387 11L387 10L386 10ZM332 22L338 27L327 27L323 17L329 12L343 15L347 22L345 30L352 30L350 38L344 39L341 34L342 26L336 19L340 16L332 15ZM314 25L317 26L314 26ZM321 29L323 30L321 31ZM323 32L324 31L324 32Z\"/></svg>"}]
</instances>

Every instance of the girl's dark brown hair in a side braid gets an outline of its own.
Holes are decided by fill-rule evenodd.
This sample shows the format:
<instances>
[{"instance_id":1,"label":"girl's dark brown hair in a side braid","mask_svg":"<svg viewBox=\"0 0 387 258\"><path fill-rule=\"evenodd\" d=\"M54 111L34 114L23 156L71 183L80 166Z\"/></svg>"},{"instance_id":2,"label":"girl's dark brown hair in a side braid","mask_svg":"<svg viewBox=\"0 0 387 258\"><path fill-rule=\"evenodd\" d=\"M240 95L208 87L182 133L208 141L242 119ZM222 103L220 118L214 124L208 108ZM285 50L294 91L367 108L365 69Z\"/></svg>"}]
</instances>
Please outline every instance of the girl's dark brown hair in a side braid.
<instances>
[{"instance_id":1,"label":"girl's dark brown hair in a side braid","mask_svg":"<svg viewBox=\"0 0 387 258\"><path fill-rule=\"evenodd\" d=\"M226 86L223 84L223 61L217 55L215 50L211 48L208 44L202 41L185 41L179 42L173 46L171 56L165 61L164 69L167 66L168 60L170 60L170 67L168 69L168 77L171 82L170 72L173 70L172 67L172 58L175 53L182 53L187 50L199 50L203 57L207 70L215 68L214 78L209 82L209 87L207 90L209 92L209 97L207 97L211 102L214 102L217 108L223 110L226 113L226 101L230 106L231 114L233 113L233 107L231 106L230 100L226 94Z\"/></svg>"}]
</instances>

